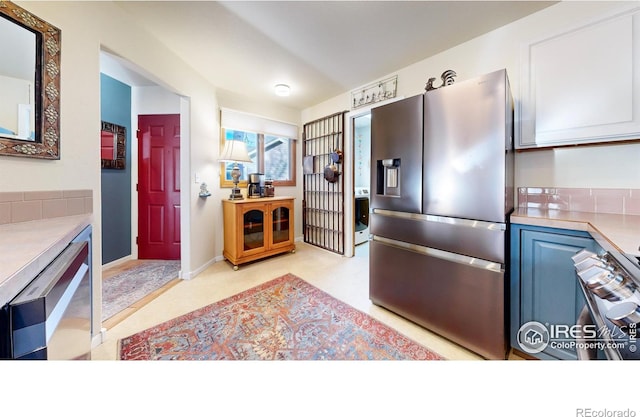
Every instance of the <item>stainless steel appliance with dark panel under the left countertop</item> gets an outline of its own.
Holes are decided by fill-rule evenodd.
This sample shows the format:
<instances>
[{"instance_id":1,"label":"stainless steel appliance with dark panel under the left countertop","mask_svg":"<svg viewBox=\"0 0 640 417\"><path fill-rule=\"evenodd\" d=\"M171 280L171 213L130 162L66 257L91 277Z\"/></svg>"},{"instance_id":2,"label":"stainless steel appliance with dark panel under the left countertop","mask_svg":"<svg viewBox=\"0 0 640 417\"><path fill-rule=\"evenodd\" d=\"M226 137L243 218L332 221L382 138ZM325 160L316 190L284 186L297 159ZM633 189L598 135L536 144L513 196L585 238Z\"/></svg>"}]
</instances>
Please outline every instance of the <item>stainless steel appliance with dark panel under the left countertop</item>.
<instances>
[{"instance_id":1,"label":"stainless steel appliance with dark panel under the left countertop","mask_svg":"<svg viewBox=\"0 0 640 417\"><path fill-rule=\"evenodd\" d=\"M91 358L91 226L2 308L5 359Z\"/></svg>"}]
</instances>

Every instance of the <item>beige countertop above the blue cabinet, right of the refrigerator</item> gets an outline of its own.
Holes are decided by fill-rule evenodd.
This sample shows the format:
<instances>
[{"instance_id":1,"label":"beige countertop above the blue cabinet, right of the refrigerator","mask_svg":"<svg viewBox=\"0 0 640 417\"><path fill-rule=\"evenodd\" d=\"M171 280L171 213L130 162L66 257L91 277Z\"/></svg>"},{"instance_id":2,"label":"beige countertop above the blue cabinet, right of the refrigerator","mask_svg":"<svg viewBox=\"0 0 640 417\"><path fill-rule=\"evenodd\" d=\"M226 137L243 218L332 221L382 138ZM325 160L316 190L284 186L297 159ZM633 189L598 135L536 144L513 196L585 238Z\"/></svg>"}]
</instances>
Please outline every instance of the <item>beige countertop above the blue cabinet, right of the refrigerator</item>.
<instances>
[{"instance_id":1,"label":"beige countertop above the blue cabinet, right of the refrigerator","mask_svg":"<svg viewBox=\"0 0 640 417\"><path fill-rule=\"evenodd\" d=\"M511 223L586 231L607 250L640 256L640 216L518 208Z\"/></svg>"}]
</instances>

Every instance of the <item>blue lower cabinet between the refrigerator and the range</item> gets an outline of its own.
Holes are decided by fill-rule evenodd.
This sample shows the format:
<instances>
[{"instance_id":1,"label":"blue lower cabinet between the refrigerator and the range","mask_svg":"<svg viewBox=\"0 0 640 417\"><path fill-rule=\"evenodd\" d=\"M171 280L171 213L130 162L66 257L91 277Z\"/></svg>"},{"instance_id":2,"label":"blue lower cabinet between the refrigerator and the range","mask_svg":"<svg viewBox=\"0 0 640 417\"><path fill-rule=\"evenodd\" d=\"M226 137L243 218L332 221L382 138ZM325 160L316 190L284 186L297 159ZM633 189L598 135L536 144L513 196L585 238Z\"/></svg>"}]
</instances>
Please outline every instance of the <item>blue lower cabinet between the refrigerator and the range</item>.
<instances>
[{"instance_id":1,"label":"blue lower cabinet between the refrigerator and the range","mask_svg":"<svg viewBox=\"0 0 640 417\"><path fill-rule=\"evenodd\" d=\"M511 228L511 347L539 359L577 359L572 328L586 301L571 257L598 251L586 232Z\"/></svg>"}]
</instances>

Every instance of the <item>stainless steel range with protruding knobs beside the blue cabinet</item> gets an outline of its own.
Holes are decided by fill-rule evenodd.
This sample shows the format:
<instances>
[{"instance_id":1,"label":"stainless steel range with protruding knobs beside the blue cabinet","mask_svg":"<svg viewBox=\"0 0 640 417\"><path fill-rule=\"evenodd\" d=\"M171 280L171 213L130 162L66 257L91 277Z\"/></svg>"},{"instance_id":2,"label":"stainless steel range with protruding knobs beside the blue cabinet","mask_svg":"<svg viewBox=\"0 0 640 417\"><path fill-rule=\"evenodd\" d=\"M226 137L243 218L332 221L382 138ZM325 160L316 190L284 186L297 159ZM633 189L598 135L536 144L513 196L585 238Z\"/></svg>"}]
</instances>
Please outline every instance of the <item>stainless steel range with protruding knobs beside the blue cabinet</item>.
<instances>
[{"instance_id":1,"label":"stainless steel range with protruding knobs beside the blue cabinet","mask_svg":"<svg viewBox=\"0 0 640 417\"><path fill-rule=\"evenodd\" d=\"M582 250L573 257L586 301L577 322L578 359L637 360L640 359L638 259L608 249L599 253Z\"/></svg>"}]
</instances>

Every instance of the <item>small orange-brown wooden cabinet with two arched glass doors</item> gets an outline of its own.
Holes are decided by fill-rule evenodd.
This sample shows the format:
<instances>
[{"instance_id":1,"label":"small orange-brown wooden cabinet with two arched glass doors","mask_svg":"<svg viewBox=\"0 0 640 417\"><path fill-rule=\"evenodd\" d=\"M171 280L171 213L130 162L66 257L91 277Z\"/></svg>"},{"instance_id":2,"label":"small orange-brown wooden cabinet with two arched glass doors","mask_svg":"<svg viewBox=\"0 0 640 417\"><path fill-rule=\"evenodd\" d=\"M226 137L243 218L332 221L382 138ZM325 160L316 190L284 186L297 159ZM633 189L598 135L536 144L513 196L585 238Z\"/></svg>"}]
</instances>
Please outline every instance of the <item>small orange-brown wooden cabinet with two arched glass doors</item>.
<instances>
[{"instance_id":1,"label":"small orange-brown wooden cabinet with two arched glass doors","mask_svg":"<svg viewBox=\"0 0 640 417\"><path fill-rule=\"evenodd\" d=\"M223 200L223 256L238 265L295 252L293 197Z\"/></svg>"}]
</instances>

